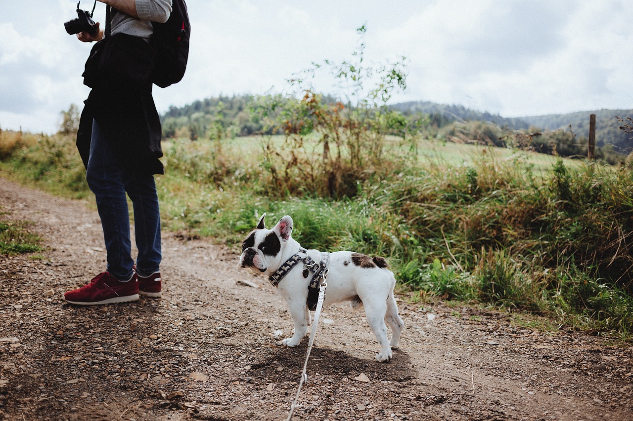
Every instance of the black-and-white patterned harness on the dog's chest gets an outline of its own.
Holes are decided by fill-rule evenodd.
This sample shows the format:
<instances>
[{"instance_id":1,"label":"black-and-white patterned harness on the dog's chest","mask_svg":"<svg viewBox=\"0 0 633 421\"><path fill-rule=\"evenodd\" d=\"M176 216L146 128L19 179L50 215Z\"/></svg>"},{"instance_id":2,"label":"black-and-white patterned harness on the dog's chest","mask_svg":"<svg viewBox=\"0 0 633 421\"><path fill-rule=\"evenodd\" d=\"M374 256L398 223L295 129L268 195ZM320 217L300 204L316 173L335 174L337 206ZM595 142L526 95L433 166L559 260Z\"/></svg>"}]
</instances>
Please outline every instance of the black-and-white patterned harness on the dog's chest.
<instances>
[{"instance_id":1,"label":"black-and-white patterned harness on the dog's chest","mask_svg":"<svg viewBox=\"0 0 633 421\"><path fill-rule=\"evenodd\" d=\"M302 257L301 254L304 255ZM318 293L320 284L325 282L325 278L327 278L327 265L330 261L330 253L322 252L321 253L321 261L317 264L312 258L308 255L308 250L305 248L299 248L299 252L294 253L290 259L286 260L284 264L282 264L275 273L268 276L268 281L277 288L277 285L284 279L284 276L289 274L299 262L303 262L303 278L308 278L310 272L313 272L312 278L310 279L310 284L308 284L308 308L310 310L315 310L316 303L318 302Z\"/></svg>"}]
</instances>

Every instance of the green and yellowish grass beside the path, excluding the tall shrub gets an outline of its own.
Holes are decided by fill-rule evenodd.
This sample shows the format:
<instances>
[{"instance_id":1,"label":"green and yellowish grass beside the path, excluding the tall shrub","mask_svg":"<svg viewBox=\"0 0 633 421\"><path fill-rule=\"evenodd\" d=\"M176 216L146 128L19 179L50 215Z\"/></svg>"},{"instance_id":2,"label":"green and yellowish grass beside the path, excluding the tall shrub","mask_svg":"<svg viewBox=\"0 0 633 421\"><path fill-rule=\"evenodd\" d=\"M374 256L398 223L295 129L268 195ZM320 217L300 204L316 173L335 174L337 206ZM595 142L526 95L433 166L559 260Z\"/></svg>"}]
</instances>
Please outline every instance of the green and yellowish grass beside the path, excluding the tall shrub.
<instances>
[{"instance_id":1,"label":"green and yellowish grass beside the path, excluding the tall shrub","mask_svg":"<svg viewBox=\"0 0 633 421\"><path fill-rule=\"evenodd\" d=\"M629 169L437 140L418 140L417 152L396 138L387 144L384 173L354 181L354 194L335 200L310 190L301 171L287 178L292 195L273 183L268 165L282 169L292 150L270 162L261 152L287 146L283 137L170 140L166 175L157 178L163 226L239 252L263 212L268 226L289 214L303 247L387 257L411 302L480 303L539 315L547 329L631 339ZM316 157L319 147L310 146ZM72 139L41 137L17 145L0 168L83 197L77 155Z\"/></svg>"}]
</instances>

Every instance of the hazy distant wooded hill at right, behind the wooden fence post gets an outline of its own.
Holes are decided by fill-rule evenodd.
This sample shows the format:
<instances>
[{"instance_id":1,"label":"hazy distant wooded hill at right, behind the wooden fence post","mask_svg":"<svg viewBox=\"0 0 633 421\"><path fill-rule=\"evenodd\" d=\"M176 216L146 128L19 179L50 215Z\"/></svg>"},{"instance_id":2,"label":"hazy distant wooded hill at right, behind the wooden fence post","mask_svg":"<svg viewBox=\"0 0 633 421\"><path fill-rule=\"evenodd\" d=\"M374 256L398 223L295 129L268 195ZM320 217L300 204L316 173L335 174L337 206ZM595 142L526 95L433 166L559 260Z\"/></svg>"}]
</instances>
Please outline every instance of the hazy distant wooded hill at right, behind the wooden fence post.
<instances>
[{"instance_id":1,"label":"hazy distant wooded hill at right, behind the wooden fence post","mask_svg":"<svg viewBox=\"0 0 633 421\"><path fill-rule=\"evenodd\" d=\"M629 154L633 150L633 134L620 130L620 118L633 118L633 109L601 109L599 111L579 111L569 114L548 114L544 116L527 116L505 118L499 114L482 113L460 105L436 104L429 101L401 102L391 106L403 114L424 113L441 116L448 121L489 121L501 127L513 130L556 130L571 128L580 139L589 135L589 115L596 114L596 145L603 147L612 145L613 150ZM571 127L570 127L571 126Z\"/></svg>"}]
</instances>

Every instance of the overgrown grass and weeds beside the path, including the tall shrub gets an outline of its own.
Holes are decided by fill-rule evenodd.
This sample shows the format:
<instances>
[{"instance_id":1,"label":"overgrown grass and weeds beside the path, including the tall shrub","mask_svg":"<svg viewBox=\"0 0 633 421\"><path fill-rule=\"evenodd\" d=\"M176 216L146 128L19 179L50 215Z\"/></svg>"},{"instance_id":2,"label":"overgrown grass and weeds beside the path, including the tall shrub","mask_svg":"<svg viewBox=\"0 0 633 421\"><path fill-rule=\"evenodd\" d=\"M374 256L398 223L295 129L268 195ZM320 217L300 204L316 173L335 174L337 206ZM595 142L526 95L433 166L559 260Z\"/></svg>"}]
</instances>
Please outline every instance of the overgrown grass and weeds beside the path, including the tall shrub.
<instances>
[{"instance_id":1,"label":"overgrown grass and weeds beside the path, including the tall shrub","mask_svg":"<svg viewBox=\"0 0 633 421\"><path fill-rule=\"evenodd\" d=\"M362 44L351 61L310 71L323 70L349 94L320 95L308 73L294 78L302 95L254 99L249 121L268 135L234 137L218 126L196 142L190 131L164 143L166 229L213 236L237 252L261 213L269 222L290 214L304 247L385 256L403 288L422 298L631 338L628 166L534 153L534 139L548 133L472 125L451 134L470 142L449 143L437 118L386 107L406 86L403 62L367 69ZM436 129L440 137L427 138ZM68 135L1 136L3 173L74 197L87 192Z\"/></svg>"}]
</instances>

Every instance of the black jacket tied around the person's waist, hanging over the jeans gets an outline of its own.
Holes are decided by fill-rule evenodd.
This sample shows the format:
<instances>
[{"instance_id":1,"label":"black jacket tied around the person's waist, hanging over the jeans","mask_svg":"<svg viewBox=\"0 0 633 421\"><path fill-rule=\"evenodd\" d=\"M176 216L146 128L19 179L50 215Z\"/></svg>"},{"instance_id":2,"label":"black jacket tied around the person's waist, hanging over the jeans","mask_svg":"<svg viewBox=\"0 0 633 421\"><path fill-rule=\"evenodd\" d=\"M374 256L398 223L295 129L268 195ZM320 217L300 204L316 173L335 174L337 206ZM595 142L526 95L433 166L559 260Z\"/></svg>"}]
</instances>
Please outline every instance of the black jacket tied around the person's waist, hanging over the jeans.
<instances>
[{"instance_id":1,"label":"black jacket tied around the person's waist, hanging over the jeans","mask_svg":"<svg viewBox=\"0 0 633 421\"><path fill-rule=\"evenodd\" d=\"M87 166L92 119L105 131L122 166L151 174L164 174L158 160L161 125L150 82L154 50L145 40L116 34L95 44L84 71L92 87L79 121L77 149ZM137 82L139 81L139 82Z\"/></svg>"}]
</instances>

